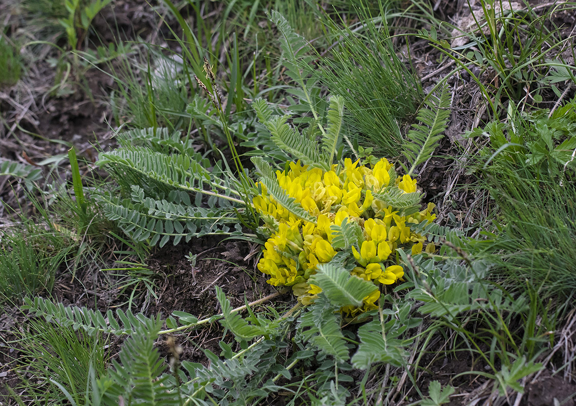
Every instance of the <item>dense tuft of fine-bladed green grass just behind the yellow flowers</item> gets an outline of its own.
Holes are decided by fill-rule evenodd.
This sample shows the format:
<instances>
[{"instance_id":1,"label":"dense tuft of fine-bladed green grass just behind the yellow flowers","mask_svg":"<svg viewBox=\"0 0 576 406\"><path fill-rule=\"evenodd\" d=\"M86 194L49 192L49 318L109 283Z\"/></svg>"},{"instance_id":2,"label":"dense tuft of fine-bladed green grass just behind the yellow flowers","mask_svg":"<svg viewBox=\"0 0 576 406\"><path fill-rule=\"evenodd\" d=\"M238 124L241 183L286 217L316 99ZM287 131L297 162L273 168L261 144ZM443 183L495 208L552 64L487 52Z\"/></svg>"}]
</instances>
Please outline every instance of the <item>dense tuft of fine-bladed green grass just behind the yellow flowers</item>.
<instances>
[{"instance_id":1,"label":"dense tuft of fine-bladed green grass just behind the yellow flowers","mask_svg":"<svg viewBox=\"0 0 576 406\"><path fill-rule=\"evenodd\" d=\"M397 55L385 18L373 18L364 8L359 14L357 24L344 28L325 17L334 47L320 59L322 82L344 98L350 113L346 123L351 133L358 134L359 143L396 157L403 143L400 124L415 115L423 99L422 88Z\"/></svg>"}]
</instances>

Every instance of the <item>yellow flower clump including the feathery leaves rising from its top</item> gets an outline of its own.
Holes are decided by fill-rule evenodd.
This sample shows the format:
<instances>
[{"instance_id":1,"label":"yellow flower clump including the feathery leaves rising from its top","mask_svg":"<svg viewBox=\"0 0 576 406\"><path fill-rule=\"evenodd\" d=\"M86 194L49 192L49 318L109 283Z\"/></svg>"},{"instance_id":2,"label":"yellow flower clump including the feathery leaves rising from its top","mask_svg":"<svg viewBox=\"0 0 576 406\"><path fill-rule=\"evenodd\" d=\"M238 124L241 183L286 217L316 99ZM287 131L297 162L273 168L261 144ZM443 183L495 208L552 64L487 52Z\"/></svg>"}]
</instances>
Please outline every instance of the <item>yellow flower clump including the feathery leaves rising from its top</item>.
<instances>
[{"instance_id":1,"label":"yellow flower clump including the feathery leaves rising from its top","mask_svg":"<svg viewBox=\"0 0 576 406\"><path fill-rule=\"evenodd\" d=\"M416 180L409 174L397 176L386 158L374 164L350 158L332 163L339 142L339 134L333 132L339 132L336 122L342 120L340 103L331 98L328 131L317 149L312 139L286 123L286 117L272 117L265 103L255 102L272 139L298 159L274 171L262 158L252 158L260 173L259 193L252 203L269 236L257 264L270 276L268 283L291 286L298 300L308 304L321 291L310 283L319 265L337 264L374 284L361 306L342 308L354 316L377 308L378 288L403 278L396 249L408 249L412 255L422 252L426 237L412 228L434 221L435 215L434 204L420 210L422 194ZM338 115L331 116L333 111ZM427 250L433 247L429 244Z\"/></svg>"}]
</instances>

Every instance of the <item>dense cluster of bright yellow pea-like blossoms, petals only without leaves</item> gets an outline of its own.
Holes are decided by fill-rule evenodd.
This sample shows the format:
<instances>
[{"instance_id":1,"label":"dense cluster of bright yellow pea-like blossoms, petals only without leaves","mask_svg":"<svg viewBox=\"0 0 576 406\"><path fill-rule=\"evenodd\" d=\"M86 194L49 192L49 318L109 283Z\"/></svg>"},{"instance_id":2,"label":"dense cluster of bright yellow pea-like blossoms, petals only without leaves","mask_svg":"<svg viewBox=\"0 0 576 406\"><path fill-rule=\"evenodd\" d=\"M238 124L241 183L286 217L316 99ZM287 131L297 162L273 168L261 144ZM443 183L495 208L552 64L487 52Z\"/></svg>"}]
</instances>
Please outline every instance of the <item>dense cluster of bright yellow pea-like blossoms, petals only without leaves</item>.
<instances>
[{"instance_id":1,"label":"dense cluster of bright yellow pea-like blossoms, petals only without leaves","mask_svg":"<svg viewBox=\"0 0 576 406\"><path fill-rule=\"evenodd\" d=\"M362 240L349 252L350 262L356 265L353 275L376 284L392 284L404 275L403 268L393 263L396 248L411 248L412 254L422 252L425 237L412 232L410 225L435 218L431 213L433 204L423 211L399 215L399 211L374 197L374 193L390 186L404 193L416 191L416 180L408 175L396 179L385 158L372 168L347 158L343 168L333 165L328 171L310 168L300 161L291 162L289 170L276 171L276 179L316 223L290 213L262 185L262 194L253 199L253 205L272 235L264 244L257 267L270 275L268 283L292 286L303 303L309 303L320 292L319 287L308 283L317 265L328 263L342 251L332 245L335 237L332 226L356 222L362 229ZM361 309L343 311L354 314L376 308L374 303L379 297L377 290L364 299Z\"/></svg>"}]
</instances>

